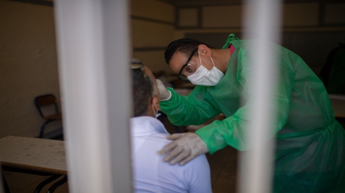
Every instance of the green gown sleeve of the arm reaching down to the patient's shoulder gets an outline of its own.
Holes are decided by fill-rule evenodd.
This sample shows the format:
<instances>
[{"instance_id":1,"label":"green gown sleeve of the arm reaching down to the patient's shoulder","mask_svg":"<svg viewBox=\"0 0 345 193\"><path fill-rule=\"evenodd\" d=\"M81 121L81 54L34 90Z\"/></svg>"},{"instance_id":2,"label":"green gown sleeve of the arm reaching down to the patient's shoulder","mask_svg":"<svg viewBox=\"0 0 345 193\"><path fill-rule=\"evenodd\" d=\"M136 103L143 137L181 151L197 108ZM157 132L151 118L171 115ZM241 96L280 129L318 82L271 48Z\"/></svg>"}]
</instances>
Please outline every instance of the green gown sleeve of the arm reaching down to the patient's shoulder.
<instances>
[{"instance_id":1,"label":"green gown sleeve of the arm reaching down to the patient's shoulder","mask_svg":"<svg viewBox=\"0 0 345 193\"><path fill-rule=\"evenodd\" d=\"M208 146L210 154L227 145L237 150L246 150L248 148L244 142L244 137L245 130L248 129L248 122L252 120L248 117L248 111L250 106L253 105L253 95L249 90L249 85L253 83L253 75L256 73L255 67L253 67L248 57L248 52L248 50L240 48L237 56L237 81L243 87L242 97L246 101L245 104L230 117L221 121L216 120L196 131L197 135ZM277 73L279 75L277 87L270 88L270 93L267 95L270 101L279 106L279 109L275 111L277 120L273 135L282 129L288 119L290 95L294 80L293 69L288 60L277 60L275 64L277 64Z\"/></svg>"}]
</instances>

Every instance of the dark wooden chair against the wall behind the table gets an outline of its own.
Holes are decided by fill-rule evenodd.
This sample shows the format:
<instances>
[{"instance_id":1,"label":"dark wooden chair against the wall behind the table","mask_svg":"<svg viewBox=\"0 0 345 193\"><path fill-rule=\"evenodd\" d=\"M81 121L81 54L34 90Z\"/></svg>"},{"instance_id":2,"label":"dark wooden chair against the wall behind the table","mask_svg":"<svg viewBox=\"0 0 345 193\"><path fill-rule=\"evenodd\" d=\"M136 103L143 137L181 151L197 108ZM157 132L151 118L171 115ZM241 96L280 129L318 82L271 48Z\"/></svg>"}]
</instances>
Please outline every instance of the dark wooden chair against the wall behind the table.
<instances>
[{"instance_id":1,"label":"dark wooden chair against the wall behind the table","mask_svg":"<svg viewBox=\"0 0 345 193\"><path fill-rule=\"evenodd\" d=\"M46 120L42 124L41 130L39 132L39 138L42 138L44 128L46 128L47 124L50 122L62 120L62 117L57 107L57 99L55 98L55 95L39 95L36 98L34 98L34 104L36 105L37 110L39 111L39 115L41 115L41 117L43 117L43 119Z\"/></svg>"}]
</instances>

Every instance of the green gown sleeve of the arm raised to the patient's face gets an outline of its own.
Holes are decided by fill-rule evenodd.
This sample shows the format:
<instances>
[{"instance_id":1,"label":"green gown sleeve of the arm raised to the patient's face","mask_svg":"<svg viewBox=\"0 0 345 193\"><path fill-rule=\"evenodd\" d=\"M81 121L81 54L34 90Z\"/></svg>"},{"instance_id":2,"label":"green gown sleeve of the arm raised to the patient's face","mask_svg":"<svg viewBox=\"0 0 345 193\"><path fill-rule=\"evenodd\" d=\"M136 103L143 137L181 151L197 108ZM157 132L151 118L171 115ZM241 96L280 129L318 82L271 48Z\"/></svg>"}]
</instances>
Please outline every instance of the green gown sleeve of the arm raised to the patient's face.
<instances>
[{"instance_id":1,"label":"green gown sleeve of the arm raised to the patient's face","mask_svg":"<svg viewBox=\"0 0 345 193\"><path fill-rule=\"evenodd\" d=\"M160 102L161 111L168 115L174 125L199 125L220 112L208 101L204 88L197 86L187 96L181 96L172 88L168 88L172 97L168 101Z\"/></svg>"}]
</instances>

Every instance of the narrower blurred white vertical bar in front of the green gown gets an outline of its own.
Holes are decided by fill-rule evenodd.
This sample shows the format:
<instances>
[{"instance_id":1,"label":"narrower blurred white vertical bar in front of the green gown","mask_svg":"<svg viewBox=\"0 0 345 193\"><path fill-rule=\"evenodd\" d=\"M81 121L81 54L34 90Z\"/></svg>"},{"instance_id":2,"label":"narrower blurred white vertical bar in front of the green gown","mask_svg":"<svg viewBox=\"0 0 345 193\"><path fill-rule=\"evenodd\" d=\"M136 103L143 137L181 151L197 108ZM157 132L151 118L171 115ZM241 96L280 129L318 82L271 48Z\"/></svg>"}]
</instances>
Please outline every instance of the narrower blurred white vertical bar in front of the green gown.
<instances>
[{"instance_id":1,"label":"narrower blurred white vertical bar in front of the green gown","mask_svg":"<svg viewBox=\"0 0 345 193\"><path fill-rule=\"evenodd\" d=\"M269 42L279 43L280 1L246 0L244 16L244 38L257 39L253 44L253 66L257 70L250 86L253 91L253 108L249 115L253 122L248 126L247 141L250 150L241 155L242 163L239 177L239 192L269 193L273 185L273 130L275 125L274 109L270 89L275 85L277 64L275 51Z\"/></svg>"}]
</instances>

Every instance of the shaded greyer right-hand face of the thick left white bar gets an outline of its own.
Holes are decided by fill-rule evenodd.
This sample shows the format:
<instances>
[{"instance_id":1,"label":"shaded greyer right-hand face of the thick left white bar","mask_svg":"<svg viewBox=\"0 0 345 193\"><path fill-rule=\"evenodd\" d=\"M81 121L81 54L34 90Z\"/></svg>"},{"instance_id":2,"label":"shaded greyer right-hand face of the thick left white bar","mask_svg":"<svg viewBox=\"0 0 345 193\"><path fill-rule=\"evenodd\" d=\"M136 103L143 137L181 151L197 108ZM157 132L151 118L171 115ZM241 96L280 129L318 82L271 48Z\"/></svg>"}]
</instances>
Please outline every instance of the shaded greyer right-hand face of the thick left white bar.
<instances>
[{"instance_id":1,"label":"shaded greyer right-hand face of the thick left white bar","mask_svg":"<svg viewBox=\"0 0 345 193\"><path fill-rule=\"evenodd\" d=\"M130 84L130 14L127 0L103 0L104 58L108 88L108 122L112 147L113 192L132 191L129 117L132 116Z\"/></svg>"}]
</instances>

